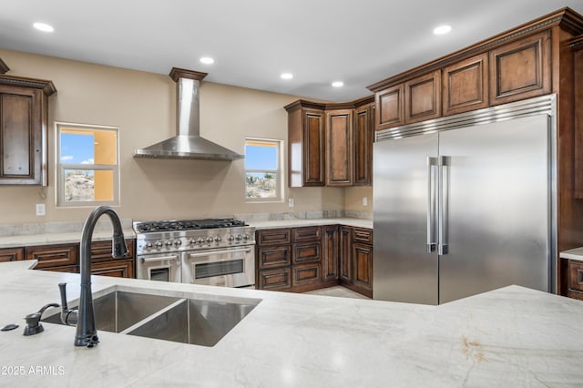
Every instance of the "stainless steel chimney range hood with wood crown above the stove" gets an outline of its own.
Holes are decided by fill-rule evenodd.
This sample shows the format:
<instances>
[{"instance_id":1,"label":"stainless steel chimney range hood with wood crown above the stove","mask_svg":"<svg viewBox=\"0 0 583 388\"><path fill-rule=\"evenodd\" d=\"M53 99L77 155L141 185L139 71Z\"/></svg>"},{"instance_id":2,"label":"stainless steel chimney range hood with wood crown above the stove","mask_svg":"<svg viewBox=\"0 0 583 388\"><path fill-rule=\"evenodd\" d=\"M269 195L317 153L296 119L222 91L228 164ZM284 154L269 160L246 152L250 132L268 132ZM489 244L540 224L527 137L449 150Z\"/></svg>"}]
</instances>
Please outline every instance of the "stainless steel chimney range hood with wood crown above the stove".
<instances>
[{"instance_id":1,"label":"stainless steel chimney range hood with wood crown above the stove","mask_svg":"<svg viewBox=\"0 0 583 388\"><path fill-rule=\"evenodd\" d=\"M178 84L178 133L147 148L134 150L134 158L235 160L245 158L200 137L199 86L207 73L172 67L169 76Z\"/></svg>"}]
</instances>

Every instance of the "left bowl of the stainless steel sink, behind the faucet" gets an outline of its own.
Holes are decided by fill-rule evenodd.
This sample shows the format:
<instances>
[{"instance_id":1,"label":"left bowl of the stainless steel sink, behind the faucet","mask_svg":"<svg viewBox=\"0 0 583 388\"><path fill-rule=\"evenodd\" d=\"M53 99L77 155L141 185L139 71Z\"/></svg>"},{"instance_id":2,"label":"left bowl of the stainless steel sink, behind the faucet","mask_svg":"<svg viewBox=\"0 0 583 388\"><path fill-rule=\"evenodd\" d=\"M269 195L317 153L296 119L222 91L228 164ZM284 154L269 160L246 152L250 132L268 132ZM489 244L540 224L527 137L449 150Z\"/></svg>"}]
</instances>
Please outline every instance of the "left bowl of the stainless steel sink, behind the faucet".
<instances>
[{"instance_id":1,"label":"left bowl of the stainless steel sink, behind the faucet","mask_svg":"<svg viewBox=\"0 0 583 388\"><path fill-rule=\"evenodd\" d=\"M179 301L179 298L145 293L111 291L93 300L95 326L104 332L123 332L128 327L147 318L154 312ZM77 307L77 304L69 305ZM42 320L61 323L59 314Z\"/></svg>"}]
</instances>

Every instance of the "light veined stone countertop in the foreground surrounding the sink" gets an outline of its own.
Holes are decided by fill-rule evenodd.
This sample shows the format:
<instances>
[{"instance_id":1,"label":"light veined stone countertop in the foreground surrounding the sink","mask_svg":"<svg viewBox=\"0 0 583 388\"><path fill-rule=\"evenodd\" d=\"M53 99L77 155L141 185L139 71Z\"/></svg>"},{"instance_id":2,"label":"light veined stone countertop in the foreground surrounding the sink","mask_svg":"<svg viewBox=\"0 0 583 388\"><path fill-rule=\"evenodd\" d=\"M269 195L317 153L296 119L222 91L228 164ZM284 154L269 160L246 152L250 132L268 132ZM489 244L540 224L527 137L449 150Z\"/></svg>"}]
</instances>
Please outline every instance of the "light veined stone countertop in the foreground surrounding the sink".
<instances>
[{"instance_id":1,"label":"light veined stone countertop in the foreground surrounding the sink","mask_svg":"<svg viewBox=\"0 0 583 388\"><path fill-rule=\"evenodd\" d=\"M22 335L26 314L59 301L57 283L69 300L79 292L79 275L32 264L0 264L0 325L21 325L0 332L0 386L583 386L583 301L541 291L510 286L435 307L94 276L96 293L261 302L214 347L99 332L87 349L72 327Z\"/></svg>"}]
</instances>

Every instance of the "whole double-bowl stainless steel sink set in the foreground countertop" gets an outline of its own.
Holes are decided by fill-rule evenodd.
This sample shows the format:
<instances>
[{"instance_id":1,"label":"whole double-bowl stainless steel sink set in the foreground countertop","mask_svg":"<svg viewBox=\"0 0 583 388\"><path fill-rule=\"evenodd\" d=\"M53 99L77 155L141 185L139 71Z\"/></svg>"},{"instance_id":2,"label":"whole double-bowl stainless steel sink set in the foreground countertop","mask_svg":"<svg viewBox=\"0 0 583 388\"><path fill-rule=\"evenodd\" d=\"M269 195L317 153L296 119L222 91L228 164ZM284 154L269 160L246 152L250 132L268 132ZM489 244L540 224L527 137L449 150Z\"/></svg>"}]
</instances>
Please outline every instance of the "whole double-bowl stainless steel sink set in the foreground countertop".
<instances>
[{"instance_id":1,"label":"whole double-bowl stainless steel sink set in the foreground countertop","mask_svg":"<svg viewBox=\"0 0 583 388\"><path fill-rule=\"evenodd\" d=\"M163 296L110 291L94 296L97 331L214 346L261 300L193 294ZM76 307L70 304L69 307ZM42 322L58 323L58 313Z\"/></svg>"}]
</instances>

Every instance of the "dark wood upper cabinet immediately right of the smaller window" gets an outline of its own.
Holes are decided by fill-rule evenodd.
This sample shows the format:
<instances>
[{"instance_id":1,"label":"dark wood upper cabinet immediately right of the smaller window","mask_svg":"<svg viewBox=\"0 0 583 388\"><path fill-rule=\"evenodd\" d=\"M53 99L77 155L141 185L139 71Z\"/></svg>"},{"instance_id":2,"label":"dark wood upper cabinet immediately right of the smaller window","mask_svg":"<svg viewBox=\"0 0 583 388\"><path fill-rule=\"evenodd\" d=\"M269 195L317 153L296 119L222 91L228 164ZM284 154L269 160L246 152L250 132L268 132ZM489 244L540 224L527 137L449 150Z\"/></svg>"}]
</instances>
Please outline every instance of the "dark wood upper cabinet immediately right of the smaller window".
<instances>
[{"instance_id":1,"label":"dark wood upper cabinet immediately right of the smaller window","mask_svg":"<svg viewBox=\"0 0 583 388\"><path fill-rule=\"evenodd\" d=\"M288 185L324 186L324 110L299 100L288 111Z\"/></svg>"}]
</instances>

